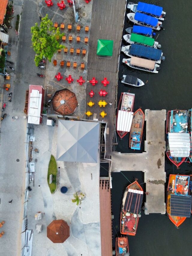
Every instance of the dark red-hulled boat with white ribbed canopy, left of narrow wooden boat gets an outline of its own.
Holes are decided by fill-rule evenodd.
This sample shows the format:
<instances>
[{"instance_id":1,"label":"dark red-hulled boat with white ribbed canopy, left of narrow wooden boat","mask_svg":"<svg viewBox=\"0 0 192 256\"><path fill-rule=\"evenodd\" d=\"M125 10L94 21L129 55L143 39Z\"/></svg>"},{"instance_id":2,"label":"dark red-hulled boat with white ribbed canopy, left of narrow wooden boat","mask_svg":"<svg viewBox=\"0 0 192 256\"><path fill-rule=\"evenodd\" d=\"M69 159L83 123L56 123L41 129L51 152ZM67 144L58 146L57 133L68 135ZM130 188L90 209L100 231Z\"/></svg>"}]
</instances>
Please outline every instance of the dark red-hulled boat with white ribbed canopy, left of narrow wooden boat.
<instances>
[{"instance_id":1,"label":"dark red-hulled boat with white ribbed canopy, left of narrow wooden boat","mask_svg":"<svg viewBox=\"0 0 192 256\"><path fill-rule=\"evenodd\" d=\"M133 93L121 93L116 117L116 131L121 139L130 132L131 129L134 99L135 95Z\"/></svg>"}]
</instances>

